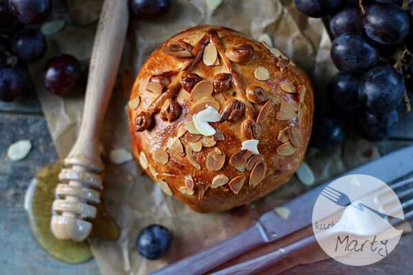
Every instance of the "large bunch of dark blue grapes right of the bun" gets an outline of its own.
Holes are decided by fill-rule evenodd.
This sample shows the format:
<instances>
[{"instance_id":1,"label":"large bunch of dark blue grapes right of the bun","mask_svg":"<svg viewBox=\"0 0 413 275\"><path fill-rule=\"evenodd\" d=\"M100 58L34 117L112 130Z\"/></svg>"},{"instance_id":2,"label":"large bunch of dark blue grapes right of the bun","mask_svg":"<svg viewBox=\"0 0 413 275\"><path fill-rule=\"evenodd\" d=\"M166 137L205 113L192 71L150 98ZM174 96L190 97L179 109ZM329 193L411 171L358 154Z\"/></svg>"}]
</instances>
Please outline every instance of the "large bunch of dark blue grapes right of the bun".
<instances>
[{"instance_id":1,"label":"large bunch of dark blue grapes right of the bun","mask_svg":"<svg viewBox=\"0 0 413 275\"><path fill-rule=\"evenodd\" d=\"M339 73L328 87L334 117L315 120L315 145L343 141L343 119L381 140L399 117L396 108L413 89L412 0L295 0L308 17L329 21L331 58ZM407 100L407 109L410 107ZM335 123L331 123L335 120ZM324 125L317 125L324 124ZM339 134L338 134L339 133ZM324 139L324 140L323 140Z\"/></svg>"}]
</instances>

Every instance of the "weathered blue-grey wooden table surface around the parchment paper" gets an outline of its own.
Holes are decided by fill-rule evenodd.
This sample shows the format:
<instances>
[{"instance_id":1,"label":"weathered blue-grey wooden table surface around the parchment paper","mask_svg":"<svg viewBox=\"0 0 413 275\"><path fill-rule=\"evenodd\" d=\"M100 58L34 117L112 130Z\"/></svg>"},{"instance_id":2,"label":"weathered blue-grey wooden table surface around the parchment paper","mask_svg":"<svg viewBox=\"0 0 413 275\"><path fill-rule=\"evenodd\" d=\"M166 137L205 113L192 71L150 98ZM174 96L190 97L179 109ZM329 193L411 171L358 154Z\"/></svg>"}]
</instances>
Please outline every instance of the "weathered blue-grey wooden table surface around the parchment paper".
<instances>
[{"instance_id":1,"label":"weathered blue-grey wooden table surface around the parchment paper","mask_svg":"<svg viewBox=\"0 0 413 275\"><path fill-rule=\"evenodd\" d=\"M382 154L413 144L413 114L403 122L389 140L379 142ZM36 170L57 159L39 101L33 96L21 103L0 102L0 274L98 274L96 261L68 265L56 261L34 240L23 208L25 190ZM8 146L28 139L32 151L20 162L10 162ZM413 234L402 237L396 249L377 264L349 267L332 260L295 267L286 274L413 274Z\"/></svg>"}]
</instances>

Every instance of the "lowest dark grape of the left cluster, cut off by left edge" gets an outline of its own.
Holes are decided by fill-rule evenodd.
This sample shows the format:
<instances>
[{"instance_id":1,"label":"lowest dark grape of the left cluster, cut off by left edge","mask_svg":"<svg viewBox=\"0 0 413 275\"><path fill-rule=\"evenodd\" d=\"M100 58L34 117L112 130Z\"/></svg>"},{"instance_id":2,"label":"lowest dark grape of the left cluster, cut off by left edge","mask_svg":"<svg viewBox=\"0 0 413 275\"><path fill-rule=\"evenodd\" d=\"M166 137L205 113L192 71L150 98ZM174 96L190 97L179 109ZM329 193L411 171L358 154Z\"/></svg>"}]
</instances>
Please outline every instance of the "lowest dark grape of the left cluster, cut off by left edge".
<instances>
[{"instance_id":1,"label":"lowest dark grape of the left cluster, cut off by left edge","mask_svg":"<svg viewBox=\"0 0 413 275\"><path fill-rule=\"evenodd\" d=\"M26 85L27 73L21 66L11 67L4 65L0 67L0 100L12 101L23 94Z\"/></svg>"}]
</instances>

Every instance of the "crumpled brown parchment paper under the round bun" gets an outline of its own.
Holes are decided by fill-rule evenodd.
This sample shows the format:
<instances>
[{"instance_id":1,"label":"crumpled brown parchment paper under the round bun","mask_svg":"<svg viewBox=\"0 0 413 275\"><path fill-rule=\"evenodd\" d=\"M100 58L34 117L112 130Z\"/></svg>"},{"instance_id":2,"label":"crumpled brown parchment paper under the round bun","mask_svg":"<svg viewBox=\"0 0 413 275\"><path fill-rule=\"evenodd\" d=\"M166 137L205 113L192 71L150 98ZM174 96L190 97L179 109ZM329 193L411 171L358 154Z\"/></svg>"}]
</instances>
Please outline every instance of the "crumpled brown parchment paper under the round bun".
<instances>
[{"instance_id":1,"label":"crumpled brown parchment paper under the round bun","mask_svg":"<svg viewBox=\"0 0 413 275\"><path fill-rule=\"evenodd\" d=\"M87 1L88 5L90 2ZM100 0L95 2L96 5L101 4ZM275 45L313 79L316 108L325 104L324 88L330 76L336 72L330 61L330 39L322 22L299 14L293 1L224 0L212 14L207 12L204 0L172 2L172 9L162 17L131 21L118 83L105 118L102 148L107 177L104 203L122 228L122 233L116 242L91 241L102 274L147 274L157 270L226 239L253 223L262 212L308 189L293 177L288 184L250 206L219 214L199 214L164 195L158 186L142 175L135 162L116 165L109 161L109 152L114 148L130 151L125 107L131 83L140 65L160 43L195 25L224 25L255 39L263 33L270 34ZM95 30L96 23L87 26L67 25L61 32L48 37L47 57L31 67L49 130L61 158L67 155L76 139L83 110L84 86L78 87L78 93L66 98L49 94L41 85L43 66L50 56L62 52L73 54L87 64ZM378 153L372 144L349 139L341 148L328 151L310 149L306 162L313 169L317 183L320 183L374 157L378 157ZM161 223L173 232L169 253L158 261L143 259L135 248L138 232L150 223ZM260 252L248 254L244 259L257 254ZM326 258L324 254L306 254L302 257L294 261L312 262Z\"/></svg>"}]
</instances>

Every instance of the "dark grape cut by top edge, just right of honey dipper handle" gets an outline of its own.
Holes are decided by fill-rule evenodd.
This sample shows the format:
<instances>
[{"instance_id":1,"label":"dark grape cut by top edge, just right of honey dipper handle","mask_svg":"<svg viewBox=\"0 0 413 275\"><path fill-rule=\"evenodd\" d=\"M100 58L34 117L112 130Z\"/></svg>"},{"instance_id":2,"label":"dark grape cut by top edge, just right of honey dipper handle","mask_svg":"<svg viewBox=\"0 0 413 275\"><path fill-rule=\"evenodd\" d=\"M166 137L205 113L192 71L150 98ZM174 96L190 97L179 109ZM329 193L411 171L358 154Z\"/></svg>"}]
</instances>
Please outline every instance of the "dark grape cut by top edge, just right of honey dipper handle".
<instances>
[{"instance_id":1,"label":"dark grape cut by top edge, just right of honey dipper handle","mask_svg":"<svg viewBox=\"0 0 413 275\"><path fill-rule=\"evenodd\" d=\"M151 17L167 12L171 8L171 0L131 0L130 5L137 17Z\"/></svg>"}]
</instances>

